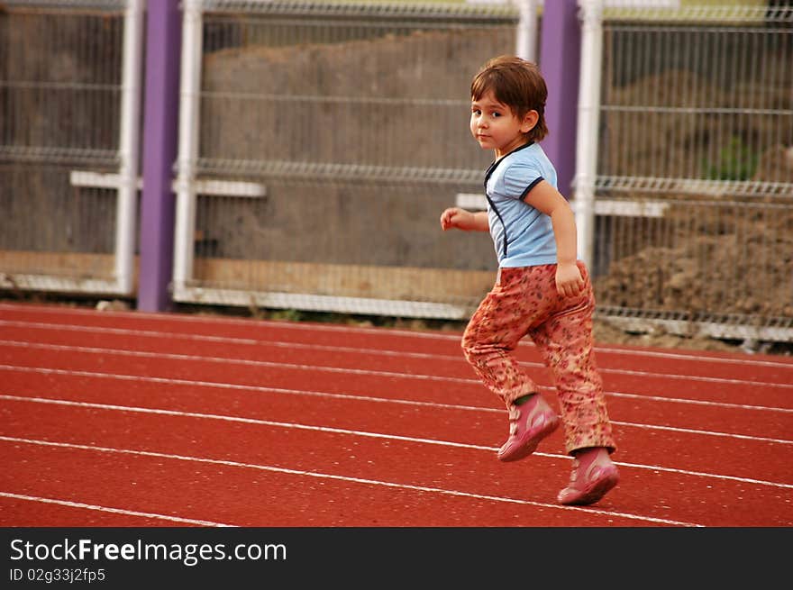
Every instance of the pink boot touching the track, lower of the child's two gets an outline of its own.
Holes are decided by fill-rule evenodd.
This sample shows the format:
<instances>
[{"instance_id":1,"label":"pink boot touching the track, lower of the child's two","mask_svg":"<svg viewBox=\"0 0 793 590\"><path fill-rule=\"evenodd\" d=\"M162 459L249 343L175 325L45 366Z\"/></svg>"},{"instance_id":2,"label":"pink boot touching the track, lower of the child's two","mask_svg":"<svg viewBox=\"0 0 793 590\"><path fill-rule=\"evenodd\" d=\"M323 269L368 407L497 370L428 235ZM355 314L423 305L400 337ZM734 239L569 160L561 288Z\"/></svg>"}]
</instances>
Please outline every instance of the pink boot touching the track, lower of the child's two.
<instances>
[{"instance_id":1,"label":"pink boot touching the track, lower of the child's two","mask_svg":"<svg viewBox=\"0 0 793 590\"><path fill-rule=\"evenodd\" d=\"M619 482L619 471L604 447L581 449L573 459L570 484L559 493L560 504L595 504Z\"/></svg>"}]
</instances>

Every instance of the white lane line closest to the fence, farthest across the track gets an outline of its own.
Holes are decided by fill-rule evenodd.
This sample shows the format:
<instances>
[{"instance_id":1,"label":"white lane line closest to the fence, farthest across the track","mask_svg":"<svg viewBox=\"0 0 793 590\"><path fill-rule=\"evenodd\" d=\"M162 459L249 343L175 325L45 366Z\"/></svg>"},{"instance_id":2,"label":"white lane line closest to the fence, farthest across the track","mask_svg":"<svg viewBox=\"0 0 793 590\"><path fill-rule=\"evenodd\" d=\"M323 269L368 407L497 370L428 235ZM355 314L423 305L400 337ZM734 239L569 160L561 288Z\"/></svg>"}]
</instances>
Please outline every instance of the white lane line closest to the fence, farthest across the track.
<instances>
[{"instance_id":1,"label":"white lane line closest to the fence, farthest across the track","mask_svg":"<svg viewBox=\"0 0 793 590\"><path fill-rule=\"evenodd\" d=\"M59 315L63 318L67 318L68 315L77 315L77 316L100 315L102 317L123 318L123 319L132 319L132 320L140 320L142 318L148 320L156 320L162 323L178 322L185 324L191 324L191 323L205 324L205 325L209 324L214 326L216 325L245 326L247 328L262 327L262 328L283 329L287 331L293 330L293 331L326 331L326 332L342 332L342 333L361 333L361 334L378 335L378 336L399 336L399 337L404 337L407 339L415 339L415 340L460 341L460 338L462 336L461 333L457 333L457 332L442 333L442 332L433 332L433 331L402 330L398 328L369 328L366 326L355 326L348 324L339 325L339 324L323 323L323 322L286 322L286 321L276 321L276 320L259 320L254 318L239 319L233 317L205 316L205 315L195 315L195 314L186 314L186 313L146 313L146 312L138 312L138 311L97 312L94 309L47 307L47 306L37 307L32 305L2 304L2 303L0 303L0 310L7 310L10 312L22 311L22 312L32 312L32 313L45 313L50 315ZM62 325L62 324L58 324L58 325ZM534 344L530 340L523 340L520 343L520 346L533 347ZM700 362L702 360L706 360L707 362L736 364L736 365L757 364L762 366L782 367L782 368L791 368L791 366L793 366L793 363L785 363L782 361L779 362L770 361L767 359L762 359L762 360L752 359L749 356L747 356L745 359L725 358L721 356L712 355L705 350L691 351L689 353L682 350L678 350L676 352L667 352L667 351L655 350L655 349L625 350L622 348L616 348L608 345L597 345L595 349L613 354L633 354L633 355L641 355L643 357L658 357L658 358L666 358L666 359L687 359L694 362Z\"/></svg>"}]
</instances>

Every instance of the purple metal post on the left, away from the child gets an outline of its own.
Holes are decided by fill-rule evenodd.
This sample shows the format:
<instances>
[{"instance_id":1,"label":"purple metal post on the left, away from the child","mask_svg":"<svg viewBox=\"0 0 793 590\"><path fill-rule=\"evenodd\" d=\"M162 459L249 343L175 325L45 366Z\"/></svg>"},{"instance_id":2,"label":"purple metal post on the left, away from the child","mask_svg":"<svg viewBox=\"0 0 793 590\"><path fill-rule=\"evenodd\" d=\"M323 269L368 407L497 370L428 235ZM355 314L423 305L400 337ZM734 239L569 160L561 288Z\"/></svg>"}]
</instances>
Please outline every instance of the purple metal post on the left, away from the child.
<instances>
[{"instance_id":1,"label":"purple metal post on the left, away from the child","mask_svg":"<svg viewBox=\"0 0 793 590\"><path fill-rule=\"evenodd\" d=\"M172 304L175 197L171 184L177 159L182 36L179 2L157 0L147 8L138 279L138 309L146 312L168 311Z\"/></svg>"}]
</instances>

